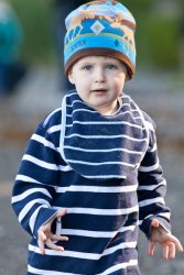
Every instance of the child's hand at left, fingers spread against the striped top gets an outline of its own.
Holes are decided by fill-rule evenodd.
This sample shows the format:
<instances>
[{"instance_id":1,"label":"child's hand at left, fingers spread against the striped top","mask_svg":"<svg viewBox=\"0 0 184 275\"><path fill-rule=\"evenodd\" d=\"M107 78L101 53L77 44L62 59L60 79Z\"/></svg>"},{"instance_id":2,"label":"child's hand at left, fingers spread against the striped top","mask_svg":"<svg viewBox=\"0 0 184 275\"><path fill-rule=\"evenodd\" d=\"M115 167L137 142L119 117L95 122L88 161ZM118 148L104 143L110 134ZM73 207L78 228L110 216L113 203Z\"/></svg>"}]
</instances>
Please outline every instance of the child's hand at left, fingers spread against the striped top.
<instances>
[{"instance_id":1,"label":"child's hand at left, fingers spread against the striped top","mask_svg":"<svg viewBox=\"0 0 184 275\"><path fill-rule=\"evenodd\" d=\"M51 220L48 220L48 222L46 222L43 227L39 229L37 244L39 244L42 255L45 254L45 244L52 250L64 251L63 246L58 246L54 244L53 242L54 241L68 241L68 238L53 234L51 231L51 226L55 219L63 217L65 213L66 213L66 210L59 210Z\"/></svg>"}]
</instances>

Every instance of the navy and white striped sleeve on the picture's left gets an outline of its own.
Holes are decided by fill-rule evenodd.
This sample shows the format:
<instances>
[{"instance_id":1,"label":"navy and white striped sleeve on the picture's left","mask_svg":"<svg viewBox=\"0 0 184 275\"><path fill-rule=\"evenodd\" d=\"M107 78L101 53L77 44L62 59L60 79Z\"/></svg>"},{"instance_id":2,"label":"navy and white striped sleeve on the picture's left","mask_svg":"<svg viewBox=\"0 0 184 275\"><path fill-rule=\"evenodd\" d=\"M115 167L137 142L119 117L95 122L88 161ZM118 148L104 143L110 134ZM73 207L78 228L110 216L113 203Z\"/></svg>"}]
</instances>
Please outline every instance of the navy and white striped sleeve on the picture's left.
<instances>
[{"instance_id":1,"label":"navy and white striped sleeve on the picture's left","mask_svg":"<svg viewBox=\"0 0 184 275\"><path fill-rule=\"evenodd\" d=\"M51 134L40 124L23 155L12 194L12 208L19 222L34 238L39 228L57 212L53 198L59 162Z\"/></svg>"}]
</instances>

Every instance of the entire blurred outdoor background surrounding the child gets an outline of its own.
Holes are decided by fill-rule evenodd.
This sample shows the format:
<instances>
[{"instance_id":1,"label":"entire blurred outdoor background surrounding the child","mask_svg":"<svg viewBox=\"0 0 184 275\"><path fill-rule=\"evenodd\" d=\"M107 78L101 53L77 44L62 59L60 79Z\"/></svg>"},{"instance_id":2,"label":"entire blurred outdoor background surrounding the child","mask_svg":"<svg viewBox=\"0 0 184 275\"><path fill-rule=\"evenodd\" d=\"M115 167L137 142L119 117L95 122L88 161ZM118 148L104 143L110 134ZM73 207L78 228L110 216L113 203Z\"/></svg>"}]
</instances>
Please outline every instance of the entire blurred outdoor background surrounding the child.
<instances>
[{"instance_id":1,"label":"entire blurred outdoor background surrounding the child","mask_svg":"<svg viewBox=\"0 0 184 275\"><path fill-rule=\"evenodd\" d=\"M29 235L11 210L13 180L40 120L61 106L64 18L80 0L0 0L0 274L26 271ZM125 0L137 20L137 74L125 87L158 125L173 232L184 244L184 1ZM184 255L148 256L140 232L142 275L182 275Z\"/></svg>"}]
</instances>

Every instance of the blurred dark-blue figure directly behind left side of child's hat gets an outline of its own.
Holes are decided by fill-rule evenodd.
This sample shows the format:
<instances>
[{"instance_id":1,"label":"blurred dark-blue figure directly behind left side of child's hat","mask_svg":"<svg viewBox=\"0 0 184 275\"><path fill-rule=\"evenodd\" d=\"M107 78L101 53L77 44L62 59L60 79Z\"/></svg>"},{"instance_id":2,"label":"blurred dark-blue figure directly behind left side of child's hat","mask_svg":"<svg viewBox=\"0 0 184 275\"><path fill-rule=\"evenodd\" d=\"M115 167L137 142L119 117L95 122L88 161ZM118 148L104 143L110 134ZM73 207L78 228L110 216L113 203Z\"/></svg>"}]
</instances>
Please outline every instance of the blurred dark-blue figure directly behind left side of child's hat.
<instances>
[{"instance_id":1,"label":"blurred dark-blue figure directly behind left side of child's hat","mask_svg":"<svg viewBox=\"0 0 184 275\"><path fill-rule=\"evenodd\" d=\"M54 41L55 41L55 51L56 57L58 59L59 67L59 88L62 91L66 92L68 89L73 89L74 86L68 81L64 73L63 66L63 52L64 52L64 35L65 35L65 18L72 11L75 10L83 3L88 2L87 0L75 0L75 1L66 1L66 0L50 0L54 8Z\"/></svg>"}]
</instances>

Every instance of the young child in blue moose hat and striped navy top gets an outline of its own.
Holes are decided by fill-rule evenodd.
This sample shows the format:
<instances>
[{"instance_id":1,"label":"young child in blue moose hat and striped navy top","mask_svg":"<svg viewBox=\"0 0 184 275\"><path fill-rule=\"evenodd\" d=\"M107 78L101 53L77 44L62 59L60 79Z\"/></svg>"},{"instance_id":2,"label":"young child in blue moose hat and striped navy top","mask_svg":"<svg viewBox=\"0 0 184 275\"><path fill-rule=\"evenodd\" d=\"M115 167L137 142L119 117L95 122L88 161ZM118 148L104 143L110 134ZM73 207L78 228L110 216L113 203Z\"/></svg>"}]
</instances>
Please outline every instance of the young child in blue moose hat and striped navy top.
<instances>
[{"instance_id":1,"label":"young child in blue moose hat and striped navy top","mask_svg":"<svg viewBox=\"0 0 184 275\"><path fill-rule=\"evenodd\" d=\"M122 94L134 74L136 22L116 1L66 19L65 72L76 90L32 135L12 206L31 234L28 274L140 274L139 226L163 257L171 233L154 123Z\"/></svg>"}]
</instances>

